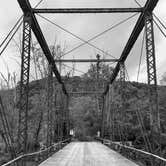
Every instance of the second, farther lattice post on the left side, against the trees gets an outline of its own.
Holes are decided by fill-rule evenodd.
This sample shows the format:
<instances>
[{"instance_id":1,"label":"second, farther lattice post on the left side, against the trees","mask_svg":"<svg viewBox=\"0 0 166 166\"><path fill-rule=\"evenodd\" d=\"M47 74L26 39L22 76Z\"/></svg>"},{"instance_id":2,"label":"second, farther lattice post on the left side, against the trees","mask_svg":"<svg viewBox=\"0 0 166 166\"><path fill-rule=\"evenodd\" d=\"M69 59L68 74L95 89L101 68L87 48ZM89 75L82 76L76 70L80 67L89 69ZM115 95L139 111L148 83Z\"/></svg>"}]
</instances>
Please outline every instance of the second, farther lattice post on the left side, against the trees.
<instances>
[{"instance_id":1,"label":"second, farther lattice post on the left side, against the trees","mask_svg":"<svg viewBox=\"0 0 166 166\"><path fill-rule=\"evenodd\" d=\"M53 141L53 71L52 65L48 66L47 80L47 147L51 146Z\"/></svg>"}]
</instances>

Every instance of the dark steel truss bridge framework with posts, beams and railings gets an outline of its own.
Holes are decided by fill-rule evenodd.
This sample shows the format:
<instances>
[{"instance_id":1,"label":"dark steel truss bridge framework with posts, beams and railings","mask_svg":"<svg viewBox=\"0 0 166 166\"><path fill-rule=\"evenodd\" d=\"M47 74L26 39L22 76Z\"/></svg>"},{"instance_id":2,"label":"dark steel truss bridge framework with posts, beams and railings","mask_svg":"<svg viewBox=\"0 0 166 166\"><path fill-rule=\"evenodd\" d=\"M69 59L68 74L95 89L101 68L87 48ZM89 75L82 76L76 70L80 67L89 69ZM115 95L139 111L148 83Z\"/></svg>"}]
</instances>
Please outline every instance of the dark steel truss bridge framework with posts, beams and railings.
<instances>
[{"instance_id":1,"label":"dark steel truss bridge framework with posts, beams and railings","mask_svg":"<svg viewBox=\"0 0 166 166\"><path fill-rule=\"evenodd\" d=\"M154 144L154 139L156 137L160 138L160 119L159 119L159 108L158 108L158 93L157 93L157 75L156 75L156 59L155 59L155 44L154 44L154 28L153 28L153 10L156 7L159 0L147 0L144 7L138 8L58 8L58 9L40 9L32 8L28 0L17 0L22 11L23 11L23 36L22 36L22 55L21 55L21 81L19 85L19 125L18 125L18 149L19 152L15 150L11 135L9 133L7 120L4 116L4 107L1 101L1 117L3 119L4 130L6 131L6 140L9 146L9 151L12 154L12 159L10 162L4 164L3 166L13 166L13 165L26 165L27 161L33 161L35 165L42 163L47 158L52 156L59 149L63 148L66 144L70 143L69 131L69 97L70 95L78 94L78 92L68 92L62 77L57 69L56 63L84 63L84 62L115 62L116 67L113 73L110 75L109 82L103 91L100 92L81 92L85 94L95 93L100 95L102 98L102 128L101 137L96 139L103 144L110 147L112 150L117 151L124 157L131 159L133 161L143 160L147 165L152 166L164 166L166 165L166 159L160 157L160 143L156 148ZM140 13L140 16L136 22L136 25L121 53L119 59L66 59L66 60L55 60L47 41L43 35L43 32L39 26L36 19L36 14L40 13L73 13L73 14L91 14L91 13ZM105 139L105 128L107 126L107 116L108 110L114 108L112 105L112 100L114 95L114 81L119 74L119 84L121 93L121 106L118 108L124 114L125 105L125 61L131 52L136 40L138 39L143 28L145 28L145 42L146 42L146 63L147 63L147 78L148 78L148 97L149 97L149 110L150 110L150 132L152 135L152 142L149 143L144 138L146 142L146 151L136 149L134 147L125 144L125 136L122 134L121 142L117 143L114 141L114 136L111 135L110 140ZM29 75L30 75L30 53L31 53L31 36L34 33L40 47L49 63L49 73L47 78L47 148L38 152L27 153L27 138L28 138L28 108L29 108ZM90 41L84 41L84 44L90 44ZM55 75L58 81L58 92L54 93L54 81L53 75ZM59 108L59 113L62 115L62 119L57 120L58 136L59 142L53 142L53 108L55 107L54 98L56 96L56 106ZM113 117L113 116L112 116ZM67 145L67 146L70 146ZM70 150L70 149L69 149ZM56 155L55 155L56 158ZM65 158L65 156L64 156ZM123 159L121 162L123 162ZM52 161L53 162L53 161ZM51 165L44 162L45 165ZM121 163L122 164L122 163ZM42 165L42 164L41 164ZM43 164L44 165L44 164ZM116 163L115 163L116 165ZM120 164L119 164L120 165ZM123 164L122 164L123 165ZM135 165L134 162L131 165Z\"/></svg>"}]
</instances>

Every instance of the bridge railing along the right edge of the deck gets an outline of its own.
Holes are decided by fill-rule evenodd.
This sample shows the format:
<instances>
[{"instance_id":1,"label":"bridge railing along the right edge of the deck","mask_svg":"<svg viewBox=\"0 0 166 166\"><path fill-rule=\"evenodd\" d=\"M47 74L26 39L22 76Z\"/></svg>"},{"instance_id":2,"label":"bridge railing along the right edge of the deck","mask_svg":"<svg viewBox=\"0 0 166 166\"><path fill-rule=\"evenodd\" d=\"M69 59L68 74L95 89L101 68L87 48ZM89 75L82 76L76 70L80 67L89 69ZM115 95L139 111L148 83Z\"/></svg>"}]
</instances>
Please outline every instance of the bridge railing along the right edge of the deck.
<instances>
[{"instance_id":1,"label":"bridge railing along the right edge of the deck","mask_svg":"<svg viewBox=\"0 0 166 166\"><path fill-rule=\"evenodd\" d=\"M153 153L146 152L134 148L132 146L127 146L122 143L113 142L107 139L98 138L103 144L107 145L111 149L119 152L126 158L129 158L136 162L141 162L141 164L146 166L166 166L166 159L155 155Z\"/></svg>"}]
</instances>

